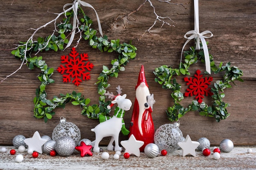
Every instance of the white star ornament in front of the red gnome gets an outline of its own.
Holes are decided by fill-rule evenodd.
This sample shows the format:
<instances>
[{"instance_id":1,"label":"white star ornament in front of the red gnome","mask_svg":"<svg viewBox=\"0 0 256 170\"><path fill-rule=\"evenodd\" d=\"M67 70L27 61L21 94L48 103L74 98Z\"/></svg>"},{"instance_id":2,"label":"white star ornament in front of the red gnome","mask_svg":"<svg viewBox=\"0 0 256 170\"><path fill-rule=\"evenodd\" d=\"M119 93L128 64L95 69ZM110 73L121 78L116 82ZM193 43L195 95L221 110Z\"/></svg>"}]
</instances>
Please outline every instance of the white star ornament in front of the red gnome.
<instances>
[{"instance_id":1,"label":"white star ornament in front of the red gnome","mask_svg":"<svg viewBox=\"0 0 256 170\"><path fill-rule=\"evenodd\" d=\"M122 146L125 148L125 153L134 154L135 156L140 156L139 148L144 145L143 141L136 140L134 135L131 135L128 140L124 140L120 142Z\"/></svg>"}]
</instances>

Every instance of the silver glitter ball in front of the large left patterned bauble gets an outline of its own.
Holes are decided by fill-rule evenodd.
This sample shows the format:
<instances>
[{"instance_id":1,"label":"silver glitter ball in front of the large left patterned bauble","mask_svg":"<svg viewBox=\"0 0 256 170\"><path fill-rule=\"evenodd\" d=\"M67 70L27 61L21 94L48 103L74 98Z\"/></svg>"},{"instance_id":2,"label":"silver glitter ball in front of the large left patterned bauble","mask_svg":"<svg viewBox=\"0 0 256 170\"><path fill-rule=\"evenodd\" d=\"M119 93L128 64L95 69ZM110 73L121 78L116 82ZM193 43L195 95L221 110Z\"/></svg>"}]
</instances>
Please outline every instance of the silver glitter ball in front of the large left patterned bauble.
<instances>
[{"instance_id":1,"label":"silver glitter ball in front of the large left patterned bauble","mask_svg":"<svg viewBox=\"0 0 256 170\"><path fill-rule=\"evenodd\" d=\"M74 152L75 147L76 143L69 136L62 136L56 140L55 150L60 156L69 157Z\"/></svg>"}]
</instances>

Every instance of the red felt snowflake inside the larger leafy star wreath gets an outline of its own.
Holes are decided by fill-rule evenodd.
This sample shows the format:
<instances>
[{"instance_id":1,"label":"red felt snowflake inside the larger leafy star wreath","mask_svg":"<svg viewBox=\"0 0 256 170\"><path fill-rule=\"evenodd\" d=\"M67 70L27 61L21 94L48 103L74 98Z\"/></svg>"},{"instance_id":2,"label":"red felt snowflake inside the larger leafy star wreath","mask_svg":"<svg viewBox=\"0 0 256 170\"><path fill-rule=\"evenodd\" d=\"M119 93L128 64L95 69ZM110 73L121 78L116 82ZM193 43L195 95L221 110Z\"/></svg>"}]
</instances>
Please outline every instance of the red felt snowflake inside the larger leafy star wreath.
<instances>
[{"instance_id":1,"label":"red felt snowflake inside the larger leafy star wreath","mask_svg":"<svg viewBox=\"0 0 256 170\"><path fill-rule=\"evenodd\" d=\"M86 70L91 71L94 65L90 63L90 61L88 61L88 54L80 54L79 58L77 57L79 53L76 52L76 48L73 47L69 55L70 57L72 57L71 59L69 59L68 55L61 56L61 63L66 64L65 66L60 65L60 67L58 67L57 69L58 72L63 74L63 82L70 82L70 77L72 77L74 78L72 83L74 83L74 85L76 86L79 86L82 82L82 79L90 80L90 72L86 72ZM85 63L84 61L88 62ZM64 73L66 73L67 75L65 75Z\"/></svg>"}]
</instances>

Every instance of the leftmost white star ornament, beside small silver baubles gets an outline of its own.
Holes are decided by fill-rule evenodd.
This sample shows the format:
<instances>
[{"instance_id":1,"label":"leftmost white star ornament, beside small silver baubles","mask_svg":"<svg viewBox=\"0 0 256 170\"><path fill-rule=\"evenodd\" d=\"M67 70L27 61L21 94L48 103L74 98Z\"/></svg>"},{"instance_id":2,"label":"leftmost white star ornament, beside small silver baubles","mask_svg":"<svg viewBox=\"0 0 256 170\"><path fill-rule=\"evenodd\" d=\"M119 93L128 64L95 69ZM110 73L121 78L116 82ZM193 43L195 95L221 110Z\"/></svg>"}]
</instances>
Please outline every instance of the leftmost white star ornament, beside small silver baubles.
<instances>
[{"instance_id":1,"label":"leftmost white star ornament, beside small silver baubles","mask_svg":"<svg viewBox=\"0 0 256 170\"><path fill-rule=\"evenodd\" d=\"M27 153L32 154L34 151L43 153L42 146L48 139L42 139L38 131L36 131L33 137L24 139L25 144L28 146Z\"/></svg>"}]
</instances>

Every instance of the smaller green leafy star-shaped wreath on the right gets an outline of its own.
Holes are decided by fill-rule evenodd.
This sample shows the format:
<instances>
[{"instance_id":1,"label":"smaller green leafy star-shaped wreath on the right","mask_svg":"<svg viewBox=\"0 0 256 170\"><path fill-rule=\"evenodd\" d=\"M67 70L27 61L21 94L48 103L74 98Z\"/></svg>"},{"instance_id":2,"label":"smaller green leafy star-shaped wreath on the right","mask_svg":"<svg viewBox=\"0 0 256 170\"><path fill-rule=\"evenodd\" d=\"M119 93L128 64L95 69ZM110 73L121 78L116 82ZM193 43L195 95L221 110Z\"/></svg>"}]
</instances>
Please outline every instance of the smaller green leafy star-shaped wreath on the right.
<instances>
[{"instance_id":1,"label":"smaller green leafy star-shaped wreath on the right","mask_svg":"<svg viewBox=\"0 0 256 170\"><path fill-rule=\"evenodd\" d=\"M212 106L207 105L205 102L201 104L198 103L197 100L193 100L192 103L188 107L183 107L180 102L184 98L181 90L181 85L177 83L176 78L173 76L177 75L190 75L189 67L197 63L198 61L202 61L204 63L204 52L201 50L198 52L195 50L195 47L190 47L189 51L184 52L184 63L180 64L180 68L172 68L171 66L162 65L159 68L156 68L153 72L156 76L155 81L162 85L164 89L170 89L172 91L171 97L173 98L174 105L172 107L168 107L166 110L166 114L168 119L173 122L177 121L179 118L184 116L185 113L189 111L199 111L202 116L214 117L217 122L220 120L225 120L230 113L227 112L227 107L229 107L229 103L225 103L222 98L225 97L224 89L231 88L231 82L238 80L243 82L243 79L240 78L243 76L243 71L238 69L237 67L231 66L230 63L226 63L226 65L216 66L213 61L213 56L210 56L211 62L211 72L217 74L219 72L225 72L223 79L218 80L214 83L214 87L211 88L211 92L213 95L213 104ZM207 72L205 72L207 74Z\"/></svg>"}]
</instances>

